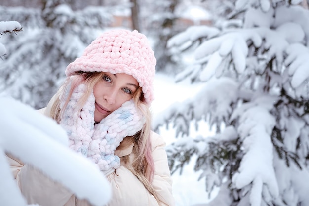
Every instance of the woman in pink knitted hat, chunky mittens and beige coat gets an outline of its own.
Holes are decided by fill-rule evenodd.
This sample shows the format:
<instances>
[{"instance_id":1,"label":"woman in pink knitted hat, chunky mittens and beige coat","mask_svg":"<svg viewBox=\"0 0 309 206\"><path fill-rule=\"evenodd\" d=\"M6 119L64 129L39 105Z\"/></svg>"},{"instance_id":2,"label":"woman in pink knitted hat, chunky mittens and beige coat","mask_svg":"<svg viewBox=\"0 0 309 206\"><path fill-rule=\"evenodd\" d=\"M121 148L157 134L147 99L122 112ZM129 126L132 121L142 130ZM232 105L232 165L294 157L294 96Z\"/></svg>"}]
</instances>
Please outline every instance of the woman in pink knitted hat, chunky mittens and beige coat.
<instances>
[{"instance_id":1,"label":"woman in pink knitted hat, chunky mittens and beige coat","mask_svg":"<svg viewBox=\"0 0 309 206\"><path fill-rule=\"evenodd\" d=\"M106 175L108 206L174 206L164 141L151 131L155 64L144 35L105 32L68 65L66 81L40 110ZM29 204L90 206L30 165L10 162Z\"/></svg>"}]
</instances>

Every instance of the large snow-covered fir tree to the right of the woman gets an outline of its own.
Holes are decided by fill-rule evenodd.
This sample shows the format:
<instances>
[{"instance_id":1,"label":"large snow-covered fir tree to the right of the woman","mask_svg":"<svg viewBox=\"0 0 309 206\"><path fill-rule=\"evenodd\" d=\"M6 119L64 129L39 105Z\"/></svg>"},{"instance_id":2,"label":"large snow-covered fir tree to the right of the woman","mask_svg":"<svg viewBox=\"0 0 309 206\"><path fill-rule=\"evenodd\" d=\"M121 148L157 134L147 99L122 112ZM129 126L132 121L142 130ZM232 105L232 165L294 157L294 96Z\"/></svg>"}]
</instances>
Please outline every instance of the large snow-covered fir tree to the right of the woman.
<instances>
[{"instance_id":1,"label":"large snow-covered fir tree to the right of the woman","mask_svg":"<svg viewBox=\"0 0 309 206\"><path fill-rule=\"evenodd\" d=\"M154 128L173 124L183 137L167 148L172 172L197 157L206 191L218 191L205 206L309 206L309 10L302 3L236 0L220 27L193 26L168 41L178 59L194 58L176 81L204 86L157 115ZM200 121L216 134L192 136L191 123L198 130Z\"/></svg>"}]
</instances>

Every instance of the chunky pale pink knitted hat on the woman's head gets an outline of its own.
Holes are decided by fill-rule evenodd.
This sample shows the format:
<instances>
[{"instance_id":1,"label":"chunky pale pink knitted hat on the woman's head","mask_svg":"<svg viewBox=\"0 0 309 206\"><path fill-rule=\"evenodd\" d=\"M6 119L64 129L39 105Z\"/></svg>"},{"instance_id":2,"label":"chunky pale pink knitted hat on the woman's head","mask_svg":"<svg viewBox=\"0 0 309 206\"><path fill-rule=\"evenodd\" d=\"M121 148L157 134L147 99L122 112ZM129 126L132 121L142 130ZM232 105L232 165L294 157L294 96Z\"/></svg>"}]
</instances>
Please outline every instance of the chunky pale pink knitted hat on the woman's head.
<instances>
[{"instance_id":1,"label":"chunky pale pink knitted hat on the woman's head","mask_svg":"<svg viewBox=\"0 0 309 206\"><path fill-rule=\"evenodd\" d=\"M70 63L66 75L76 71L111 72L132 75L142 87L145 101L154 99L153 80L156 59L145 35L134 30L103 33L87 46L81 57Z\"/></svg>"}]
</instances>

